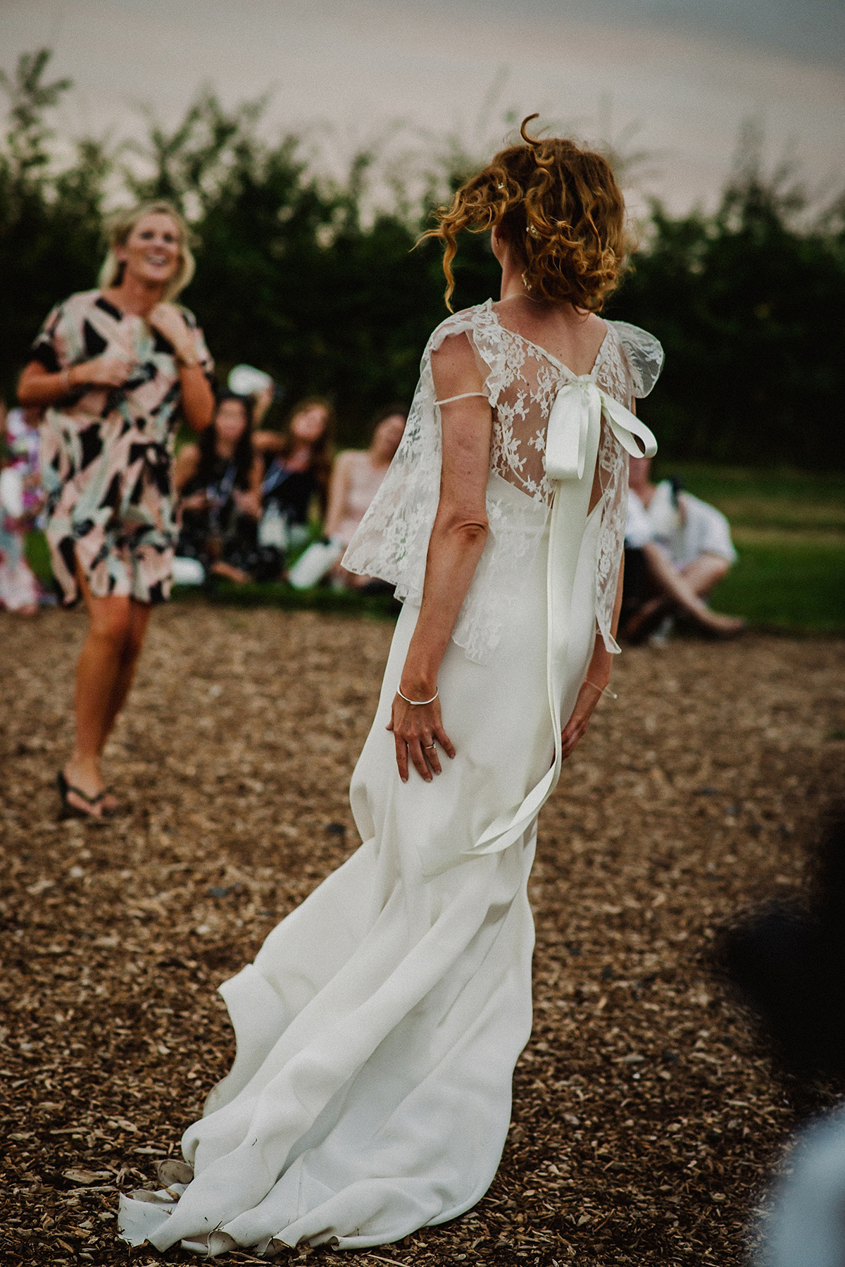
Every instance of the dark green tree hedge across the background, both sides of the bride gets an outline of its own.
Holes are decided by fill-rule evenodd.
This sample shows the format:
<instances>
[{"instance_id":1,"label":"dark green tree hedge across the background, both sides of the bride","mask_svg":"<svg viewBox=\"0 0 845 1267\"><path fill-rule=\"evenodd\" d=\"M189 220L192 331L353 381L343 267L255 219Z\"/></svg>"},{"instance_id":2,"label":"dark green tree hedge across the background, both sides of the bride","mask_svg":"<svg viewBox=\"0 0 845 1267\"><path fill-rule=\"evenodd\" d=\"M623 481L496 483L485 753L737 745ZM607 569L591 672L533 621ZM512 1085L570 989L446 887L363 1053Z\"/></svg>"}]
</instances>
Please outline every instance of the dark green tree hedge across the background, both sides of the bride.
<instances>
[{"instance_id":1,"label":"dark green tree hedge across the background, both sides of the bride","mask_svg":"<svg viewBox=\"0 0 845 1267\"><path fill-rule=\"evenodd\" d=\"M95 285L105 195L119 186L123 201L171 199L191 223L198 271L185 302L222 375L246 360L289 402L332 397L343 442L361 440L375 408L409 399L426 338L446 315L440 248L414 242L465 155L432 157L422 208L394 176L390 205L365 217L371 153L355 157L345 181L319 179L298 137L261 138L264 101L227 111L203 90L174 131L149 118L143 146L106 153L84 139L60 167L46 120L70 85L46 81L48 62L46 49L25 54L0 81L10 101L0 150L8 398L49 308ZM811 218L789 172L766 177L758 153L746 143L712 215L652 204L646 246L608 315L664 343L666 369L642 412L665 455L842 469L845 203ZM495 294L483 238L467 237L456 279L456 307Z\"/></svg>"}]
</instances>

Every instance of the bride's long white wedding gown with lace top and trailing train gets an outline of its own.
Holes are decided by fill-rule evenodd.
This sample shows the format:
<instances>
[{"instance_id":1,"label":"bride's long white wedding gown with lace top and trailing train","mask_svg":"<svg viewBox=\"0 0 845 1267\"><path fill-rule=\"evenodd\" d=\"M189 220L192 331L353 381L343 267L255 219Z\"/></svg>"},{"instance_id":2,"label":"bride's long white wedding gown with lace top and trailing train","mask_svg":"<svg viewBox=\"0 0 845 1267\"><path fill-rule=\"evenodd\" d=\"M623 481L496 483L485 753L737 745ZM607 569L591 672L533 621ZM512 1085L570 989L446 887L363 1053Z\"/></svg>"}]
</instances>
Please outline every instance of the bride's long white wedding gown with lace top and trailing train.
<instances>
[{"instance_id":1,"label":"bride's long white wedding gown with lace top and trailing train","mask_svg":"<svg viewBox=\"0 0 845 1267\"><path fill-rule=\"evenodd\" d=\"M432 336L395 470L345 559L405 597L352 777L364 844L222 986L234 1066L184 1135L193 1181L168 1182L190 1178L171 1163L160 1192L122 1199L132 1244L181 1242L212 1256L241 1247L272 1257L326 1242L355 1249L452 1219L490 1185L513 1067L531 1033L536 813L557 777L559 718L571 712L608 593L613 606L606 573L618 571L625 446L633 447L631 431L650 442L616 402L645 394L652 378L644 381L642 357L659 369L658 352L650 336L619 329L625 338L608 323L593 374L581 379L498 326L489 304ZM432 465L428 357L460 331L476 348L498 341L502 352L486 384L497 400L493 531L456 625L461 644L450 642L438 675L456 756L443 758L432 783L412 770L403 784L385 726L419 609L408 569L419 566L414 550L423 542L424 552L437 494L429 470L397 550L397 506L408 507L397 485L413 484L409 468ZM508 418L521 393L531 397L522 430L519 409ZM560 417L550 424L556 398L569 403L554 405ZM542 468L545 443L531 454L524 443L546 428L564 473L557 483ZM533 493L532 455L541 464ZM587 514L597 457L604 495ZM438 478L438 449L435 459ZM433 507L419 494L426 481ZM503 584L516 595L504 606Z\"/></svg>"}]
</instances>

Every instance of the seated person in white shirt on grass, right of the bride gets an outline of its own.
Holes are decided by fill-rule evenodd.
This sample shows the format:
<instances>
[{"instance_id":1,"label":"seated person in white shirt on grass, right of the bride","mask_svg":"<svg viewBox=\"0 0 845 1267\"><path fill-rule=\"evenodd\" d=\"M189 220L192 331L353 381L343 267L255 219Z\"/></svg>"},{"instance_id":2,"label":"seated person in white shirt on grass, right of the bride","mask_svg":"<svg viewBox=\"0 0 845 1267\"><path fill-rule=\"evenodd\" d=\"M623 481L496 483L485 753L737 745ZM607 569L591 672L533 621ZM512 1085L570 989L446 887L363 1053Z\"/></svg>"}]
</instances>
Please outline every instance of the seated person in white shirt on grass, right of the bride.
<instances>
[{"instance_id":1,"label":"seated person in white shirt on grass, right of the bride","mask_svg":"<svg viewBox=\"0 0 845 1267\"><path fill-rule=\"evenodd\" d=\"M652 484L650 468L650 457L631 457L622 637L641 641L674 614L717 637L740 634L745 621L706 602L736 560L727 519L671 480Z\"/></svg>"}]
</instances>

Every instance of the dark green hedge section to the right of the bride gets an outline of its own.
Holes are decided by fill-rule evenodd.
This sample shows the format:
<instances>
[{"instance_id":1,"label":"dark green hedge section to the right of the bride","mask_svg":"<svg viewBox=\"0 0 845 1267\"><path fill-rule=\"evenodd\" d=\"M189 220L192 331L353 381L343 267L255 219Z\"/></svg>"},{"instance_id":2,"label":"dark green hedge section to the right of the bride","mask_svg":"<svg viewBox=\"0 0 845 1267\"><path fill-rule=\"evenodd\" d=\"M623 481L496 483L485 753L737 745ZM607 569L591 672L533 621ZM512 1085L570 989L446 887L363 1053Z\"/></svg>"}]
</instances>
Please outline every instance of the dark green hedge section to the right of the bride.
<instances>
[{"instance_id":1,"label":"dark green hedge section to the right of the bride","mask_svg":"<svg viewBox=\"0 0 845 1267\"><path fill-rule=\"evenodd\" d=\"M649 247L608 315L664 345L646 408L669 456L841 470L841 199L808 220L789 167L766 179L758 155L745 147L711 217L652 205Z\"/></svg>"}]
</instances>

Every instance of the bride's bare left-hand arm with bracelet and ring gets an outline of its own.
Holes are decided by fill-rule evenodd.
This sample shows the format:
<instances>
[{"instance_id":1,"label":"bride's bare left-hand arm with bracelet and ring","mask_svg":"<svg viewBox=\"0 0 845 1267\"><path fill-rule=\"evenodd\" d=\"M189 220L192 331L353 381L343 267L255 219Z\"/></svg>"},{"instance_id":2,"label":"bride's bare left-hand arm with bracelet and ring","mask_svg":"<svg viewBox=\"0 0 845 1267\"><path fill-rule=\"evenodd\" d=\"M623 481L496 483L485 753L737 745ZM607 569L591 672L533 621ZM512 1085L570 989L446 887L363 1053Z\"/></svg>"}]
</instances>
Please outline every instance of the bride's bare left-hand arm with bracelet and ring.
<instances>
[{"instance_id":1,"label":"bride's bare left-hand arm with bracelet and ring","mask_svg":"<svg viewBox=\"0 0 845 1267\"><path fill-rule=\"evenodd\" d=\"M447 338L432 355L438 400L481 392L475 355L465 334ZM426 583L417 627L402 670L400 691L408 699L429 699L437 691L437 673L448 646L488 535L486 480L493 418L484 395L470 395L441 405L443 461L440 504L428 542ZM393 701L388 727L397 744L397 765L408 779L408 758L427 782L440 774L437 748L455 755L443 730L440 701L409 704L399 694Z\"/></svg>"}]
</instances>

